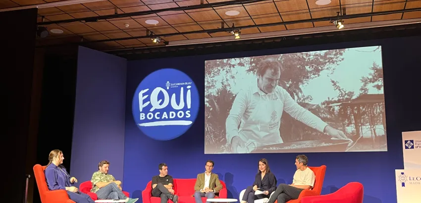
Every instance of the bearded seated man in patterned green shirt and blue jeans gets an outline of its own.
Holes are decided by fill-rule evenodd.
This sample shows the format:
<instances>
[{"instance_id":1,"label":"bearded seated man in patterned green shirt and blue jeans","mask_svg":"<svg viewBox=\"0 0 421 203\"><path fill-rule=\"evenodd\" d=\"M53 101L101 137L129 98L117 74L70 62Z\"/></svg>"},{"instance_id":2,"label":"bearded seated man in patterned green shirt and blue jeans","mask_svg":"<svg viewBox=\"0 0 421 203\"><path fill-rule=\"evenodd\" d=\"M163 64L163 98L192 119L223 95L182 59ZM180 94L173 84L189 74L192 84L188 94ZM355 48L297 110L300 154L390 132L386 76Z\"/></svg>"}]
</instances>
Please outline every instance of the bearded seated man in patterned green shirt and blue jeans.
<instances>
[{"instance_id":1,"label":"bearded seated man in patterned green shirt and blue jeans","mask_svg":"<svg viewBox=\"0 0 421 203\"><path fill-rule=\"evenodd\" d=\"M109 162L106 160L98 164L96 171L91 178L91 192L97 194L99 200L128 200L127 203L135 203L139 198L128 198L121 192L121 181L115 180L114 176L108 174Z\"/></svg>"}]
</instances>

